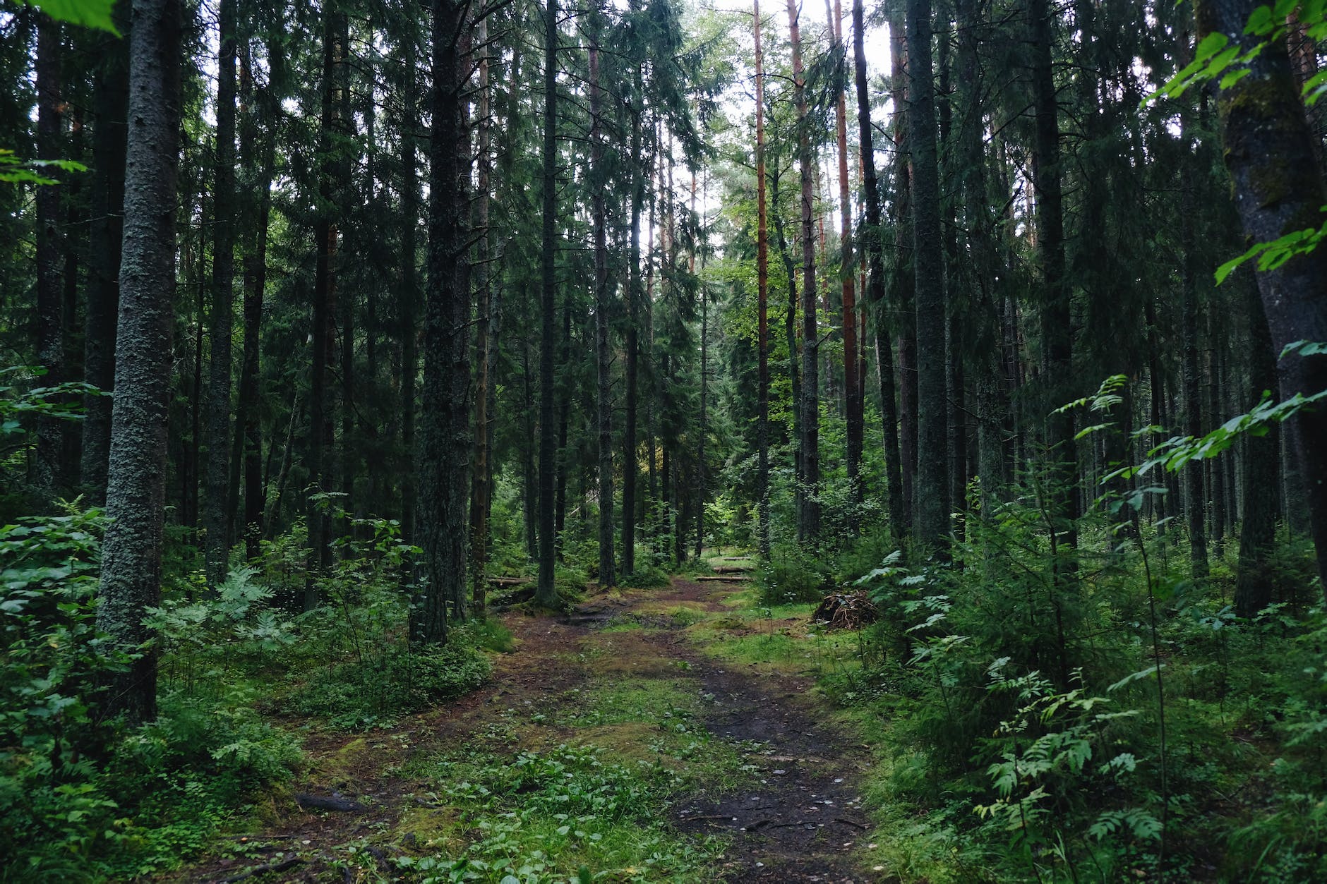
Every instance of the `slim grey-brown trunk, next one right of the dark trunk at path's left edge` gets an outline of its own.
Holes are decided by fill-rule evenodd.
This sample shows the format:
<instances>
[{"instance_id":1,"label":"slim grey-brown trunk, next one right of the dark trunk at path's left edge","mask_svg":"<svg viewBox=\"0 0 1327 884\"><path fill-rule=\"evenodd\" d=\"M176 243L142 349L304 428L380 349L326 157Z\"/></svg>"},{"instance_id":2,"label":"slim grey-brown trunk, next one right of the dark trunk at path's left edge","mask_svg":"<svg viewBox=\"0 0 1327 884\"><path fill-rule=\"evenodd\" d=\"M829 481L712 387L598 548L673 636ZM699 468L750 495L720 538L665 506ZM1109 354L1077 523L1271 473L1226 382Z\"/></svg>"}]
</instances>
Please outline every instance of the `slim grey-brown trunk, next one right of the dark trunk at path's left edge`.
<instances>
[{"instance_id":1,"label":"slim grey-brown trunk, next one right of the dark trunk at path's left edge","mask_svg":"<svg viewBox=\"0 0 1327 884\"><path fill-rule=\"evenodd\" d=\"M609 350L608 292L608 169L604 166L602 105L598 89L598 40L602 31L601 12L591 11L589 36L589 174L591 214L594 226L594 376L598 404L598 585L617 584L613 563L613 396L612 353Z\"/></svg>"}]
</instances>

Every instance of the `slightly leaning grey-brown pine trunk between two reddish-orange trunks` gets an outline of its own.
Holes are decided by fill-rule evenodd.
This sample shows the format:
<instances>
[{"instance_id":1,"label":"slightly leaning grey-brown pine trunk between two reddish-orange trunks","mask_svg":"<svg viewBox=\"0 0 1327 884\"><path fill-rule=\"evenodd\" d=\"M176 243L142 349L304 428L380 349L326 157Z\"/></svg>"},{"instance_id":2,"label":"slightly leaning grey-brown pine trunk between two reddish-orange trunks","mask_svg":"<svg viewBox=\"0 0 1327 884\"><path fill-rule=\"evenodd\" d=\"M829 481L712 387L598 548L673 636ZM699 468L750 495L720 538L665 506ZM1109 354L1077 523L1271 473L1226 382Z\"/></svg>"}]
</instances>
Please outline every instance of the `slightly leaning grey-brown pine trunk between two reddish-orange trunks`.
<instances>
[{"instance_id":1,"label":"slightly leaning grey-brown pine trunk between two reddish-orange trunks","mask_svg":"<svg viewBox=\"0 0 1327 884\"><path fill-rule=\"evenodd\" d=\"M811 119L807 106L807 77L802 68L799 9L788 0L788 28L792 41L794 104L798 108L798 165L802 171L802 506L798 511L798 539L815 543L820 535L820 382L816 329L816 235L815 158L811 154Z\"/></svg>"}]
</instances>

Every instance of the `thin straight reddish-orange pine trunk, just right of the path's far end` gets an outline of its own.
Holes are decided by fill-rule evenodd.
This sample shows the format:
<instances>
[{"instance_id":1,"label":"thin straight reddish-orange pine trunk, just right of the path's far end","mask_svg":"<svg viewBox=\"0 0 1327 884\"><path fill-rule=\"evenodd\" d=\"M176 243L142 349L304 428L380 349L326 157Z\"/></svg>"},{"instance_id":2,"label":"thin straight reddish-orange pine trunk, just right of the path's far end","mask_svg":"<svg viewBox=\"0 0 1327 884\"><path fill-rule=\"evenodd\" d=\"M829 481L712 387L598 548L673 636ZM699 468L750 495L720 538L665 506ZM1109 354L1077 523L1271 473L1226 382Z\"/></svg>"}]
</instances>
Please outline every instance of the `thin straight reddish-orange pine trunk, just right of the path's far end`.
<instances>
[{"instance_id":1,"label":"thin straight reddish-orange pine trunk, just right of the path's far end","mask_svg":"<svg viewBox=\"0 0 1327 884\"><path fill-rule=\"evenodd\" d=\"M764 68L760 54L760 0L751 15L755 31L755 279L756 279L756 542L770 561L770 223L764 206ZM791 350L790 350L791 354Z\"/></svg>"}]
</instances>

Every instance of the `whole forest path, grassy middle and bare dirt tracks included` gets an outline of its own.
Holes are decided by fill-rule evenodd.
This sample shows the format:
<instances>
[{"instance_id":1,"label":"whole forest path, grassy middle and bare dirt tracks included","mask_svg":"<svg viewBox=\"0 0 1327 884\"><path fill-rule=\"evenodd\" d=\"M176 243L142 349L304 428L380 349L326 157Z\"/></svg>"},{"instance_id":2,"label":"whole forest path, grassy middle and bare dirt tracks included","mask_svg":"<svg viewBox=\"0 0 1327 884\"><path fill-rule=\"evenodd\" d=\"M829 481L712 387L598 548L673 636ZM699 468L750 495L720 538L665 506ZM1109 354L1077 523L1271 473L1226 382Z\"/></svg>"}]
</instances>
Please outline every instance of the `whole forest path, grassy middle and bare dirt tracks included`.
<instances>
[{"instance_id":1,"label":"whole forest path, grassy middle and bare dirt tracks included","mask_svg":"<svg viewBox=\"0 0 1327 884\"><path fill-rule=\"evenodd\" d=\"M808 612L686 577L506 612L486 688L389 729L309 726L292 792L162 880L878 880L869 747L811 690Z\"/></svg>"}]
</instances>

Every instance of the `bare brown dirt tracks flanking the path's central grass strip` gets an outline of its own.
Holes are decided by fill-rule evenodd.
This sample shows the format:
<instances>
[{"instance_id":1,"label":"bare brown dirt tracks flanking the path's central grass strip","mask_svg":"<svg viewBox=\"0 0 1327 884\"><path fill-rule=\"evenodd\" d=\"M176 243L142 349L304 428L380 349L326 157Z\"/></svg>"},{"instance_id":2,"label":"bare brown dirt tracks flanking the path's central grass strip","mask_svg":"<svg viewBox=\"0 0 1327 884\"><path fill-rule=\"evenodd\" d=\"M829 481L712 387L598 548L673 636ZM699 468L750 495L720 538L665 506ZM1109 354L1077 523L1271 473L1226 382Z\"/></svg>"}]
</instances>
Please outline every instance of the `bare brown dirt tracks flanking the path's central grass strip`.
<instances>
[{"instance_id":1,"label":"bare brown dirt tracks flanking the path's central grass strip","mask_svg":"<svg viewBox=\"0 0 1327 884\"><path fill-rule=\"evenodd\" d=\"M853 857L857 842L868 834L856 788L865 765L861 747L825 722L808 681L743 672L739 665L710 660L682 634L685 620L661 613L670 608L726 611L721 600L738 588L674 579L657 591L600 593L560 617L503 615L518 650L495 661L490 686L403 719L391 730L311 733L305 741L311 767L292 795L271 800L264 831L235 839L228 851L232 856L163 880L364 880L362 872L341 868L337 861L352 842L366 844L381 875L390 880L387 857L395 823L418 803L415 792L429 787L405 778L402 765L463 743L503 709L555 710L565 692L588 682L583 650L594 632L622 623L648 628L614 633L617 653L597 660L594 674L612 677L620 670L632 677L675 678L681 670L705 698L705 726L714 737L742 746L759 769L742 791L682 795L674 802L679 831L731 838L725 879L872 880ZM344 808L328 810L337 803Z\"/></svg>"}]
</instances>

